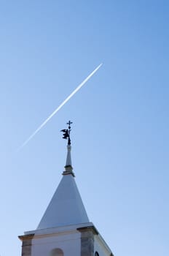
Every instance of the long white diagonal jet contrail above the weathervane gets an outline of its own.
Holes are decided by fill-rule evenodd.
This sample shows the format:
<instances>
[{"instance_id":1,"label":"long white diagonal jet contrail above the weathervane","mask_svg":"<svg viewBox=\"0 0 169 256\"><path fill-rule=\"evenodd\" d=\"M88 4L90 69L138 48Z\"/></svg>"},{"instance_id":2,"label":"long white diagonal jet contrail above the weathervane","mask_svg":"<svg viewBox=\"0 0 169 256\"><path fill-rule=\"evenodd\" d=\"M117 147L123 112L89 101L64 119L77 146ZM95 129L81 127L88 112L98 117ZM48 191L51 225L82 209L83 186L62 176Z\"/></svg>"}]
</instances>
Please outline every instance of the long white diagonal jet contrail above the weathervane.
<instances>
[{"instance_id":1,"label":"long white diagonal jet contrail above the weathervane","mask_svg":"<svg viewBox=\"0 0 169 256\"><path fill-rule=\"evenodd\" d=\"M91 72L91 74L88 75L87 78L82 81L82 83L79 84L79 86L77 86L77 88L58 106L58 108L55 109L55 111L53 111L53 113L32 133L32 135L27 140L25 140L23 145L20 146L19 150L23 148L29 142L29 140L34 138L34 135L36 135L36 133L39 132L39 130L42 129L42 127L44 127L44 125L47 124L48 121L50 121L50 118L52 118L52 116L54 116L55 113L57 113L58 110L60 110L60 108L62 108L63 105L66 104L66 102L68 102L68 99L71 99L71 97L74 96L74 94L76 94L76 92L79 91L82 86L84 86L84 83L86 83L87 80L89 80L95 74L95 72L101 67L101 65L102 63L98 67L96 67L96 69Z\"/></svg>"}]
</instances>

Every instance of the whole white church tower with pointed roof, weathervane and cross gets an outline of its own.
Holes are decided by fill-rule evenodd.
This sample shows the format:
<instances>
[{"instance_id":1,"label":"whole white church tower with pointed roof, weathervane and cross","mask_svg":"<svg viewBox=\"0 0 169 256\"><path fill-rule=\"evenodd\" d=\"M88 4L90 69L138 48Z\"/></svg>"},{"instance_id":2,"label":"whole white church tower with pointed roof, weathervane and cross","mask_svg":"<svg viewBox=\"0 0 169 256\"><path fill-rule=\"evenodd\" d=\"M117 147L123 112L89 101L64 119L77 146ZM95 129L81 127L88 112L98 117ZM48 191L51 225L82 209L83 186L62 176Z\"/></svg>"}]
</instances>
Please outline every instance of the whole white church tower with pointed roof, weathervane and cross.
<instances>
[{"instance_id":1,"label":"whole white church tower with pointed roof, weathervane and cross","mask_svg":"<svg viewBox=\"0 0 169 256\"><path fill-rule=\"evenodd\" d=\"M63 129L68 140L63 177L34 231L19 236L22 256L113 256L87 217L71 165L71 122Z\"/></svg>"}]
</instances>

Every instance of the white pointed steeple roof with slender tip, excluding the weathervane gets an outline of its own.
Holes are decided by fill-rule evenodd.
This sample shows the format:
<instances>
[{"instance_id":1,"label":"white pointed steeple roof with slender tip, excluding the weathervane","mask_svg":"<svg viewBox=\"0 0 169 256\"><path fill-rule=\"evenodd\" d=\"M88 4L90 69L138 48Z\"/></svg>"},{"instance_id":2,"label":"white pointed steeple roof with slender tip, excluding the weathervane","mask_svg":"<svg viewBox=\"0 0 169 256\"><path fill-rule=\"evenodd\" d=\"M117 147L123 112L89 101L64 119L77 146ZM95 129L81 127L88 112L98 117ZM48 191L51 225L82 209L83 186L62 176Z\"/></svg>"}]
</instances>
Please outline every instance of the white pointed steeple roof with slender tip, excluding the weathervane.
<instances>
[{"instance_id":1,"label":"white pointed steeple roof with slender tip, excluding the weathervane","mask_svg":"<svg viewBox=\"0 0 169 256\"><path fill-rule=\"evenodd\" d=\"M67 158L63 178L50 201L37 230L89 222L76 187L73 167L71 165L71 143L69 138Z\"/></svg>"}]
</instances>

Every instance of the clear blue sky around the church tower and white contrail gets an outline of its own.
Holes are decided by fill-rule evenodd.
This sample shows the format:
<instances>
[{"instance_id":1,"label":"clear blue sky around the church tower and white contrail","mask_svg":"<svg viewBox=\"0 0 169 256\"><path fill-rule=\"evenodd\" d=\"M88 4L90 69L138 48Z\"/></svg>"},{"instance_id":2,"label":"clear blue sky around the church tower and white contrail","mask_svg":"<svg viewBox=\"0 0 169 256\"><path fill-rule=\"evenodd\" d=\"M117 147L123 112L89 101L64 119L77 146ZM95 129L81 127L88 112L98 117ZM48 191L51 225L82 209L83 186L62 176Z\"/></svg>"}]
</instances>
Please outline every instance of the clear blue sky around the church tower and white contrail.
<instances>
[{"instance_id":1,"label":"clear blue sky around the church tower and white contrail","mask_svg":"<svg viewBox=\"0 0 169 256\"><path fill-rule=\"evenodd\" d=\"M168 17L168 1L1 1L1 256L21 255L62 178L69 119L76 184L114 255L168 255Z\"/></svg>"}]
</instances>

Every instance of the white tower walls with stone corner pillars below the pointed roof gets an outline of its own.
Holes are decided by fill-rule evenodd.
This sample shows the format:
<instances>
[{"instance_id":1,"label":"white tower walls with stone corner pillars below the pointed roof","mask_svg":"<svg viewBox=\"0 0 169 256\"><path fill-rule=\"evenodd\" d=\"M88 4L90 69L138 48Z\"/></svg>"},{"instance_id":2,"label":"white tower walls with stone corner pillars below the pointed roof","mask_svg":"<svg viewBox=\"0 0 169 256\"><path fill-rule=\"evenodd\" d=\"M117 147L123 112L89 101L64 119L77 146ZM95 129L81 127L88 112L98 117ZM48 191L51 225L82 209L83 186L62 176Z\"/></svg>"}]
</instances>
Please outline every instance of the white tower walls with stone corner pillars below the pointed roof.
<instances>
[{"instance_id":1,"label":"white tower walls with stone corner pillars below the pointed roof","mask_svg":"<svg viewBox=\"0 0 169 256\"><path fill-rule=\"evenodd\" d=\"M112 256L91 222L35 230L19 238L23 241L22 256Z\"/></svg>"}]
</instances>

